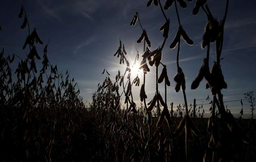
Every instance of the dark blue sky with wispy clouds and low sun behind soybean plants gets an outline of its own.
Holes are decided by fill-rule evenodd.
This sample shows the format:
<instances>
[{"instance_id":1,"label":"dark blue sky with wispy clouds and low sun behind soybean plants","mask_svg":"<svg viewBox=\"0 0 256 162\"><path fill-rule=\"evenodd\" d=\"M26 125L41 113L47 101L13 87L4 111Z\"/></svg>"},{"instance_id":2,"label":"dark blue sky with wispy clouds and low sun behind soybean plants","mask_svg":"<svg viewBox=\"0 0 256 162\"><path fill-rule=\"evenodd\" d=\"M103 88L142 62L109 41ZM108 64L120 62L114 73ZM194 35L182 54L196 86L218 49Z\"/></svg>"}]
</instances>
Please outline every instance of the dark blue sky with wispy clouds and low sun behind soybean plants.
<instances>
[{"instance_id":1,"label":"dark blue sky with wispy clouds and low sun behind soybean plants","mask_svg":"<svg viewBox=\"0 0 256 162\"><path fill-rule=\"evenodd\" d=\"M137 48L140 56L143 54L143 45L137 44L141 28L138 24L130 27L136 11L139 12L143 28L147 30L151 41L151 50L162 44L162 32L159 27L165 22L159 6L146 7L148 0L31 0L13 1L3 0L0 2L0 25L3 30L0 32L0 47L5 48L5 53L15 53L25 58L28 51L22 50L27 34L26 30L20 28L23 20L18 18L21 5L24 5L30 27L36 27L37 32L44 43L48 42L48 58L52 64L57 64L59 71L69 70L70 76L78 82L81 96L84 100L90 101L92 93L97 90L98 83L102 83L106 75L102 75L104 68L114 79L118 69L121 74L125 67L119 65L119 59L113 54L119 46L119 38L125 45L130 61L136 56ZM161 0L162 4L165 1ZM225 1L208 0L210 10L217 20L221 20L225 11ZM200 48L200 42L204 33L204 26L207 19L200 9L197 16L192 15L195 0L187 2L188 8L182 9L178 5L181 23L187 34L194 41L193 46L188 46L182 41L180 51L180 66L186 75L186 93L188 101L193 99L204 99L210 95L205 90L205 80L201 82L196 90L190 86L195 78L204 57L206 49ZM256 91L255 75L255 52L256 52L256 2L253 0L230 1L228 16L224 29L224 45L221 61L223 75L228 84L228 89L223 90L224 95L243 94ZM177 49L170 50L169 44L173 40L178 28L175 8L172 6L165 11L170 18L169 38L163 49L162 62L167 65L167 72L171 86L167 88L167 101L174 102L174 105L183 103L182 93L175 93L175 82L173 76L177 72L176 53ZM214 44L211 45L210 62L215 60ZM37 46L42 56L43 46ZM140 58L142 59L142 58ZM16 61L16 62L15 62ZM13 63L16 67L18 59ZM139 61L140 62L140 61ZM211 65L210 65L211 66ZM161 68L159 69L159 73ZM139 77L141 84L143 80L142 71ZM132 75L134 77L134 75ZM150 67L146 75L146 93L148 101L155 91L155 67ZM139 104L140 87L133 87L134 98ZM164 85L159 85L159 91L164 94ZM224 96L225 101L243 99L243 95ZM197 100L197 104L207 103L205 100ZM233 113L241 108L240 102L225 103ZM204 106L207 109L207 105ZM244 101L244 108L248 103ZM244 113L249 112L245 109Z\"/></svg>"}]
</instances>

